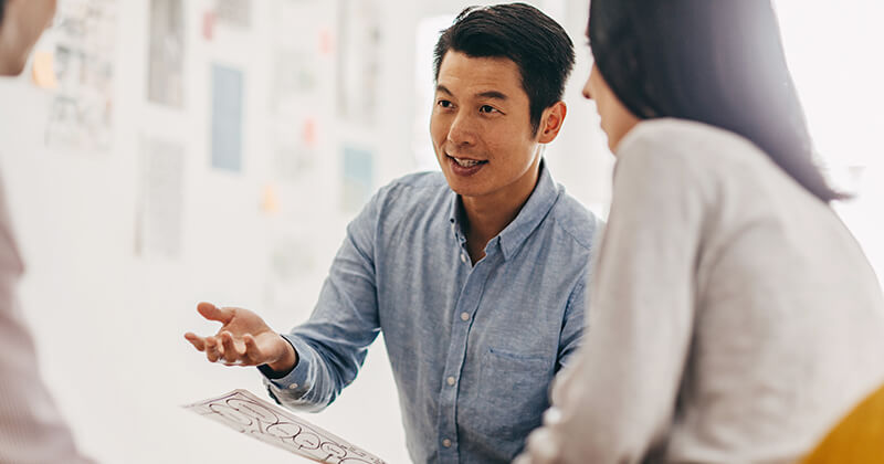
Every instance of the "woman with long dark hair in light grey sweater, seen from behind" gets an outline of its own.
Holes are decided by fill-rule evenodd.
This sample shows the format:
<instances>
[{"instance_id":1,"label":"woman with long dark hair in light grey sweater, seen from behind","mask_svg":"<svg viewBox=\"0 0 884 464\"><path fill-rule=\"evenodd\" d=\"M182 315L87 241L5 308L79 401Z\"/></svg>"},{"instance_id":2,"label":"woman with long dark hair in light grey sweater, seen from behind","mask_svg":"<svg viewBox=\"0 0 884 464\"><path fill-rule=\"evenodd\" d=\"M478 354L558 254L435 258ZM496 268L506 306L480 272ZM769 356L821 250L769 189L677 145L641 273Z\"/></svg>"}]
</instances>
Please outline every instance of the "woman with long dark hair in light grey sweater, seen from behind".
<instances>
[{"instance_id":1,"label":"woman with long dark hair in light grey sweater, seen from behind","mask_svg":"<svg viewBox=\"0 0 884 464\"><path fill-rule=\"evenodd\" d=\"M519 463L792 462L884 381L769 0L592 0L615 154L589 336Z\"/></svg>"}]
</instances>

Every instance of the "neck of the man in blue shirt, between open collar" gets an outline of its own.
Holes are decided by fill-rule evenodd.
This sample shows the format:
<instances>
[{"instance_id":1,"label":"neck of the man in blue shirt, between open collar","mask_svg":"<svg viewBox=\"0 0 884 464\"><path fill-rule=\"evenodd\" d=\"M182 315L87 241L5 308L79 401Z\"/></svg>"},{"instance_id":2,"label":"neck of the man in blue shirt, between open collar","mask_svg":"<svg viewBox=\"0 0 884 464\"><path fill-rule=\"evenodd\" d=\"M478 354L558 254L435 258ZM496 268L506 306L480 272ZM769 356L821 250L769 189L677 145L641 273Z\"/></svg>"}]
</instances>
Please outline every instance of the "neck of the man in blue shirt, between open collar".
<instances>
[{"instance_id":1,"label":"neck of the man in blue shirt, between open collar","mask_svg":"<svg viewBox=\"0 0 884 464\"><path fill-rule=\"evenodd\" d=\"M475 264L485 257L485 245L516 219L537 186L540 160L507 188L483 197L461 197L466 215L466 250Z\"/></svg>"}]
</instances>

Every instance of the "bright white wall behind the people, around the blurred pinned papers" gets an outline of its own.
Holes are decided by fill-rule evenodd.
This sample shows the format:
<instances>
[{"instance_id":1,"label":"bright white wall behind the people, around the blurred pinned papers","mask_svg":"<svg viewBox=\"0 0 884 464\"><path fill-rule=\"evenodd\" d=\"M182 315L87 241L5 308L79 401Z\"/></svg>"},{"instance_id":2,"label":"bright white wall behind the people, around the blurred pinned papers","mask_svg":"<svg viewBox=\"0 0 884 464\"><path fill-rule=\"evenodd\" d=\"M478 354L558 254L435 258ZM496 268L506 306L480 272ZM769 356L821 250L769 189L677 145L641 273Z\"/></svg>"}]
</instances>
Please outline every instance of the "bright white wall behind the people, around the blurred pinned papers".
<instances>
[{"instance_id":1,"label":"bright white wall behind the people, around the blurred pinned papers","mask_svg":"<svg viewBox=\"0 0 884 464\"><path fill-rule=\"evenodd\" d=\"M333 85L337 64L333 59L320 60L317 68L327 80L305 103L305 112L319 120L316 168L306 178L286 182L275 180L267 136L274 123L267 110L267 83L274 60L271 50L278 40L273 32L277 1L253 2L250 30L219 28L211 42L202 39L200 23L212 1L185 2L186 94L180 110L146 102L149 3L119 1L115 137L106 152L48 148L42 140L53 93L38 89L28 76L0 83L0 166L28 264L21 299L40 347L41 370L83 447L102 462L287 458L177 408L234 388L263 392L252 369L209 365L181 335L214 330L194 312L196 303L203 299L257 309L280 330L308 316L352 215L340 208L341 146L356 144L373 150L376 187L414 169L413 95L427 83L415 83L413 70L418 53L429 51L415 50L413 27L422 18L454 14L467 4L379 0L383 66L375 126L337 119ZM309 3L301 0L299 8ZM292 34L309 24L334 29L337 3L314 3L304 23L292 24ZM558 181L604 213L612 158L604 149L592 105L580 97L589 70L583 46L588 1L535 3L566 25L578 48L578 65L567 89L568 120L547 159ZM872 18L881 15L860 13L869 9L880 13L881 7L874 0L844 1L839 11L824 9L821 1L778 3L787 46L801 50L790 57L814 135L821 143L829 140L824 151L833 164L850 155L848 164L865 166L855 182L864 189L863 197L843 209L881 272L883 228L877 218L884 205L880 187L884 162L876 136L884 128L880 115L884 98L877 86L884 75L880 62L877 67L870 63L880 54L876 46L884 38L872 24ZM831 34L818 33L817 25L792 27L807 18L827 19L844 11L862 21L838 22L842 29ZM824 48L832 42L844 46ZM843 61L849 54L859 59ZM212 62L245 72L241 173L210 168ZM821 96L824 103L819 102ZM144 137L180 140L185 147L183 246L178 257L134 252ZM857 161L860 151L864 155ZM260 208L267 184L274 184L278 194L276 214ZM286 244L297 268L281 282L273 274L271 254L275 246ZM308 419L389 462L408 460L396 389L380 342L372 347L355 384L327 411Z\"/></svg>"}]
</instances>

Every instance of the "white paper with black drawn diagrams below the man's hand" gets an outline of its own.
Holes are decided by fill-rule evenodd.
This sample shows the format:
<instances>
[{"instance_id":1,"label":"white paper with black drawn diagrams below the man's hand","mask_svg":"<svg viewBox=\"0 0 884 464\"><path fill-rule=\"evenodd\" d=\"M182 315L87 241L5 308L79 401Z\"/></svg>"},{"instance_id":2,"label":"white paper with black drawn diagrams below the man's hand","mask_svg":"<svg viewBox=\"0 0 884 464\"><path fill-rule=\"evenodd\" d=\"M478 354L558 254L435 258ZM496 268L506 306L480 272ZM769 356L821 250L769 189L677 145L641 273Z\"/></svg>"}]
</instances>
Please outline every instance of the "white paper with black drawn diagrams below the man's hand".
<instances>
[{"instance_id":1,"label":"white paper with black drawn diagrams below the man's hand","mask_svg":"<svg viewBox=\"0 0 884 464\"><path fill-rule=\"evenodd\" d=\"M380 457L246 390L233 390L183 408L317 463L386 464Z\"/></svg>"}]
</instances>

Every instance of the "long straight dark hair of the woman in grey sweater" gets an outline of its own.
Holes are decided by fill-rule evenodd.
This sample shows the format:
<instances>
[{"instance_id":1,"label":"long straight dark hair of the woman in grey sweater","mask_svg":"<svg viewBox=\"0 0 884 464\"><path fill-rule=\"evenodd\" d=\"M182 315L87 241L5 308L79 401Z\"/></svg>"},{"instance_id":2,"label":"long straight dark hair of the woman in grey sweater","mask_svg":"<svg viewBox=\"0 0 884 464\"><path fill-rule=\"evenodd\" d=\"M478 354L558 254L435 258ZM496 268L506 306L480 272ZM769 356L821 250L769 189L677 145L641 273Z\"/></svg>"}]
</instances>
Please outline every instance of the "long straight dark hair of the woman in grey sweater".
<instances>
[{"instance_id":1,"label":"long straight dark hair of the woman in grey sweater","mask_svg":"<svg viewBox=\"0 0 884 464\"><path fill-rule=\"evenodd\" d=\"M589 42L639 118L709 124L751 140L824 202L804 114L769 0L592 0Z\"/></svg>"}]
</instances>

